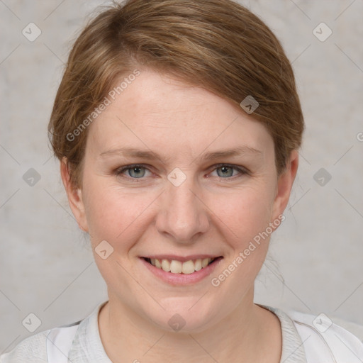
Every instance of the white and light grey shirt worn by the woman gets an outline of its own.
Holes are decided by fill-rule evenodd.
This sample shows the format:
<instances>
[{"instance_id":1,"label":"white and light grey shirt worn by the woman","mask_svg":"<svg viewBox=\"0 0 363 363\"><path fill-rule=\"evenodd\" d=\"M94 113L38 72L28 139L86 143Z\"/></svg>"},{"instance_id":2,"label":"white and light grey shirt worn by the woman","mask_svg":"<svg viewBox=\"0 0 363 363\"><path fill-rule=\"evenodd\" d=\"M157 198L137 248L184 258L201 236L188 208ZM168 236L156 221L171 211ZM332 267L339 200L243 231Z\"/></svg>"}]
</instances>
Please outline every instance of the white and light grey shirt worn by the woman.
<instances>
[{"instance_id":1,"label":"white and light grey shirt worn by the woman","mask_svg":"<svg viewBox=\"0 0 363 363\"><path fill-rule=\"evenodd\" d=\"M99 335L100 303L83 320L45 330L27 337L0 363L112 363ZM344 328L315 316L261 305L280 320L282 354L280 363L362 363L363 342ZM315 325L313 320L315 319ZM330 326L329 326L330 325ZM316 328L317 327L317 328ZM135 357L142 361L141 357Z\"/></svg>"}]
</instances>

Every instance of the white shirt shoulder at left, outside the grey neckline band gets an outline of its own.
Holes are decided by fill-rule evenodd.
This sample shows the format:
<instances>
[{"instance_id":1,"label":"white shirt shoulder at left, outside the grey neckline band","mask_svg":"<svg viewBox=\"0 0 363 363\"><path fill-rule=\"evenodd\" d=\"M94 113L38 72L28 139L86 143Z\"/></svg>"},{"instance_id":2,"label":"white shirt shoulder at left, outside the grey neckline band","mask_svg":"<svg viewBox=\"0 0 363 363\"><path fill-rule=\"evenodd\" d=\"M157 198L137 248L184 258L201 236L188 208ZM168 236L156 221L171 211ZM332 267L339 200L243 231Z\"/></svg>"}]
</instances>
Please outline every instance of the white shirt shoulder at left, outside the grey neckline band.
<instances>
[{"instance_id":1,"label":"white shirt shoulder at left, outside the grey neckline band","mask_svg":"<svg viewBox=\"0 0 363 363\"><path fill-rule=\"evenodd\" d=\"M43 363L48 356L67 354L80 322L44 330L31 335L16 345L10 352L1 354L0 363Z\"/></svg>"}]
</instances>

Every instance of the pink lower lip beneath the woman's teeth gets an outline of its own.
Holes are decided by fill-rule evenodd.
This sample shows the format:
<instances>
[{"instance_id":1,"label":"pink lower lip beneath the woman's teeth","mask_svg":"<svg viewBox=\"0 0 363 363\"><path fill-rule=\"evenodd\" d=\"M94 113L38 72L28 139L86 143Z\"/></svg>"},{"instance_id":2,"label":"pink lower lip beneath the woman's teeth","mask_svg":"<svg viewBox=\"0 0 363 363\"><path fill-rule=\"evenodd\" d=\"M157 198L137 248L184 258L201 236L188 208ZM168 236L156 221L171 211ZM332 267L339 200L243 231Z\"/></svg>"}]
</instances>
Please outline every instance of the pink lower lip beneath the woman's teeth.
<instances>
[{"instance_id":1,"label":"pink lower lip beneath the woman's teeth","mask_svg":"<svg viewBox=\"0 0 363 363\"><path fill-rule=\"evenodd\" d=\"M200 269L199 271L195 271L192 274L173 274L172 272L166 272L163 269L159 269L149 262L145 261L142 257L140 257L141 262L145 265L147 269L149 269L152 274L161 279L164 282L167 282L171 285L191 285L196 284L197 282L205 279L209 276L214 269L216 269L219 262L223 259L223 257L218 257L214 262L208 264L207 267Z\"/></svg>"}]
</instances>

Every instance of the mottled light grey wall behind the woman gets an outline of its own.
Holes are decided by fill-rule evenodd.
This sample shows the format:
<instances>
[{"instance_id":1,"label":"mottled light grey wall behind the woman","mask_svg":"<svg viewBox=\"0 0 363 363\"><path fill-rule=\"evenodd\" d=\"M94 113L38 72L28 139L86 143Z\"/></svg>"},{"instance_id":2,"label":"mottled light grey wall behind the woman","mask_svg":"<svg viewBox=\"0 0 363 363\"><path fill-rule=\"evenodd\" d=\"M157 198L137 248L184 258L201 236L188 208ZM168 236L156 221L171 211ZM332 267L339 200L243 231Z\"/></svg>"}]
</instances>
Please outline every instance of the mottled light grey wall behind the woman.
<instances>
[{"instance_id":1,"label":"mottled light grey wall behind the woman","mask_svg":"<svg viewBox=\"0 0 363 363\"><path fill-rule=\"evenodd\" d=\"M240 2L284 45L306 118L298 177L255 301L344 319L363 339L363 1ZM33 334L22 325L29 313L41 320L35 334L107 299L46 133L72 40L100 4L0 0L0 353ZM30 22L42 31L33 42L22 34ZM333 30L324 42L313 34L321 22ZM33 186L23 179L30 168L40 174ZM320 168L331 175L324 186L314 179Z\"/></svg>"}]
</instances>

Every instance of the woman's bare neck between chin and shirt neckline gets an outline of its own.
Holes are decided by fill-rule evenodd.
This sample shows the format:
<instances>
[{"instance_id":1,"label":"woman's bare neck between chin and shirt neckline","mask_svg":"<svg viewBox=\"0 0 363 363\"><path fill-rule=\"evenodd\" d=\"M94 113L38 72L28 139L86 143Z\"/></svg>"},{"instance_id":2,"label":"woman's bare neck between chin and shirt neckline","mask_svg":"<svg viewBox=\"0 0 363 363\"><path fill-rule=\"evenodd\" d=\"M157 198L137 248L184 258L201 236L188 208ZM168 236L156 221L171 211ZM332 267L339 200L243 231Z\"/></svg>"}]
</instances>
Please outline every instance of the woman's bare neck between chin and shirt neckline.
<instances>
[{"instance_id":1,"label":"woman's bare neck between chin and shirt neckline","mask_svg":"<svg viewBox=\"0 0 363 363\"><path fill-rule=\"evenodd\" d=\"M104 349L123 362L279 362L279 319L253 303L253 289L218 323L198 332L170 332L142 318L114 296L99 313ZM249 303L247 303L249 301Z\"/></svg>"}]
</instances>

